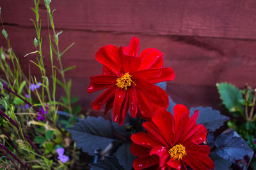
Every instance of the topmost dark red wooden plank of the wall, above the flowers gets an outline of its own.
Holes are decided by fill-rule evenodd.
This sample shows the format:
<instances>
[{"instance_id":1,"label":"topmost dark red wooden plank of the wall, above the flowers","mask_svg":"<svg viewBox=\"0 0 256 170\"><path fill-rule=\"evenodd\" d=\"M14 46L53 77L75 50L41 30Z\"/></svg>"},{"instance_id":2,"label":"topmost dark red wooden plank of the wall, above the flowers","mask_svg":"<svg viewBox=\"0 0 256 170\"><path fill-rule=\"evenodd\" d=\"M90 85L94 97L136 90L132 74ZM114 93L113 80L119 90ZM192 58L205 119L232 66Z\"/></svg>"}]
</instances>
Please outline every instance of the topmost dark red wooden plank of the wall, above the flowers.
<instances>
[{"instance_id":1,"label":"topmost dark red wooden plank of the wall, above the flowers","mask_svg":"<svg viewBox=\"0 0 256 170\"><path fill-rule=\"evenodd\" d=\"M47 27L44 1L42 25ZM33 1L0 1L3 21L31 27ZM56 27L86 31L256 39L256 1L52 1Z\"/></svg>"}]
</instances>

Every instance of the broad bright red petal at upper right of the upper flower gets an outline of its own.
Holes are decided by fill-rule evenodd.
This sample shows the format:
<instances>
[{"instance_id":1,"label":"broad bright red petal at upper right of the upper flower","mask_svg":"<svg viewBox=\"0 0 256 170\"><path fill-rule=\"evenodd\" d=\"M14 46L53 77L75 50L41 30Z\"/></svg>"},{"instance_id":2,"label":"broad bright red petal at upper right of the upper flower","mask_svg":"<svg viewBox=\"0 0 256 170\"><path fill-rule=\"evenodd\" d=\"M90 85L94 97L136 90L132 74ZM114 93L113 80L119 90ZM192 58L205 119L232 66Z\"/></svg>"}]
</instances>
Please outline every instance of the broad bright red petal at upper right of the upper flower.
<instances>
[{"instance_id":1,"label":"broad bright red petal at upper right of the upper flower","mask_svg":"<svg viewBox=\"0 0 256 170\"><path fill-rule=\"evenodd\" d=\"M156 48L147 48L140 53L141 65L139 70L160 68L163 66L163 53Z\"/></svg>"}]
</instances>

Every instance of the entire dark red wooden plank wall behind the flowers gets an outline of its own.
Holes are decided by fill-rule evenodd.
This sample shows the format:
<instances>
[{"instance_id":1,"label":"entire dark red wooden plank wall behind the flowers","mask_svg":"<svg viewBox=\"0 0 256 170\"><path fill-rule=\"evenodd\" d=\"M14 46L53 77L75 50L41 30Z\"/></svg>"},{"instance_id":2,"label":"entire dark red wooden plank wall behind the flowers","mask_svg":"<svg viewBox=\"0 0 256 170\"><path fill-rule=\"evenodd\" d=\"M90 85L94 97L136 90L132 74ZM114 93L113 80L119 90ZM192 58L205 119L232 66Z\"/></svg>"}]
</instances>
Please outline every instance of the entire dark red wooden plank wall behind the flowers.
<instances>
[{"instance_id":1,"label":"entire dark red wooden plank wall behind the flowers","mask_svg":"<svg viewBox=\"0 0 256 170\"><path fill-rule=\"evenodd\" d=\"M41 4L43 50L51 71L47 14L43 1ZM33 1L1 0L0 6L13 50L28 73L28 60L35 59L33 55L24 58L35 50L36 34L29 20L35 18L30 10ZM167 91L177 103L218 108L216 83L256 87L254 0L52 0L51 8L56 8L56 28L63 31L61 48L75 42L63 56L63 64L77 66L67 76L72 78L72 92L80 97L84 110L98 95L86 93L89 77L102 70L95 52L106 44L127 46L132 36L140 38L141 50L154 47L164 53L164 66L172 67L176 74ZM6 46L3 36L0 46ZM35 67L31 69L39 74Z\"/></svg>"}]
</instances>

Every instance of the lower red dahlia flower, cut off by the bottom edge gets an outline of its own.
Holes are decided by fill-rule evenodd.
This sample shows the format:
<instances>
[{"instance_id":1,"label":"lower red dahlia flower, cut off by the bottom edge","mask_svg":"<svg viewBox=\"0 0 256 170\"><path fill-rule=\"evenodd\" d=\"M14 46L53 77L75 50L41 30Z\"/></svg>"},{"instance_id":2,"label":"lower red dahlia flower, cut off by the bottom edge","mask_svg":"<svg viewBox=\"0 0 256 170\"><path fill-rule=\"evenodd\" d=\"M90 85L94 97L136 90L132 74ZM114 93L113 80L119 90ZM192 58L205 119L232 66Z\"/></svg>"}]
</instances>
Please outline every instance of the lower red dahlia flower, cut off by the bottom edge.
<instances>
[{"instance_id":1,"label":"lower red dahlia flower, cut off by the bottom edge","mask_svg":"<svg viewBox=\"0 0 256 170\"><path fill-rule=\"evenodd\" d=\"M198 111L189 118L189 110L182 104L173 108L173 115L158 109L152 121L145 122L146 132L132 134L131 152L138 158L134 169L214 169L208 156L211 148L199 145L206 141L207 130L196 124Z\"/></svg>"}]
</instances>

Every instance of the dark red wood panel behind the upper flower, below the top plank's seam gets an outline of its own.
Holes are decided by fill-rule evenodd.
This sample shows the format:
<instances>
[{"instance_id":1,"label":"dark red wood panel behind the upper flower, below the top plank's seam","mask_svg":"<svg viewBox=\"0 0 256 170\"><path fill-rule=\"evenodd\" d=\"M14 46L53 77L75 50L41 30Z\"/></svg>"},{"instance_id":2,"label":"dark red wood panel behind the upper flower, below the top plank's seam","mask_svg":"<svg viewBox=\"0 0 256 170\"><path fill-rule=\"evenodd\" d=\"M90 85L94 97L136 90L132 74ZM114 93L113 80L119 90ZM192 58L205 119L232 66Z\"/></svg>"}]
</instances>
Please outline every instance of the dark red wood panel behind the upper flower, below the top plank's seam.
<instances>
[{"instance_id":1,"label":"dark red wood panel behind the upper flower, below the top plank's seam","mask_svg":"<svg viewBox=\"0 0 256 170\"><path fill-rule=\"evenodd\" d=\"M24 55L35 50L33 29L17 26L5 28L24 71L28 73L29 60L35 60L35 56ZM46 35L47 29L42 29L45 66L50 74L51 66L47 52L49 40ZM106 44L127 46L132 36L140 38L141 50L155 47L164 53L164 66L172 67L176 74L175 80L168 82L167 91L177 103L216 108L220 99L215 85L221 81L228 81L239 87L243 87L247 82L256 87L256 41L65 30L60 36L61 49L72 41L76 43L63 55L63 66L77 66L76 69L67 72L67 77L72 78L72 92L80 97L80 103L84 108L90 108L90 103L100 93L86 93L89 77L102 71L102 66L94 58L95 53L100 46ZM1 45L5 45L3 36L0 36ZM38 75L38 69L31 63L29 65L31 73ZM58 94L61 92L59 90Z\"/></svg>"}]
</instances>

